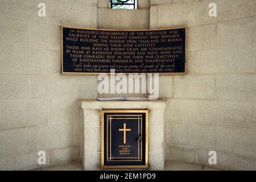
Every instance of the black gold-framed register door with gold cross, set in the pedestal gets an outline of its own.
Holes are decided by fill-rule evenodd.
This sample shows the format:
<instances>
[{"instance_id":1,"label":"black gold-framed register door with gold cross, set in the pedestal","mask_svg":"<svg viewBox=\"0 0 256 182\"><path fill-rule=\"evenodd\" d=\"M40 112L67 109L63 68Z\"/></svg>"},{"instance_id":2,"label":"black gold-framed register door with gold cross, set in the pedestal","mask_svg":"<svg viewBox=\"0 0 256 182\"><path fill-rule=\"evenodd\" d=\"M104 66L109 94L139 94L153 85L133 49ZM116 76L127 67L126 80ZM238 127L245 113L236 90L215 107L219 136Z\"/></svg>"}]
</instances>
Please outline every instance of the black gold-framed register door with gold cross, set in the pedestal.
<instances>
[{"instance_id":1,"label":"black gold-framed register door with gold cross, set in the pedestal","mask_svg":"<svg viewBox=\"0 0 256 182\"><path fill-rule=\"evenodd\" d=\"M101 111L101 166L148 167L148 110Z\"/></svg>"}]
</instances>

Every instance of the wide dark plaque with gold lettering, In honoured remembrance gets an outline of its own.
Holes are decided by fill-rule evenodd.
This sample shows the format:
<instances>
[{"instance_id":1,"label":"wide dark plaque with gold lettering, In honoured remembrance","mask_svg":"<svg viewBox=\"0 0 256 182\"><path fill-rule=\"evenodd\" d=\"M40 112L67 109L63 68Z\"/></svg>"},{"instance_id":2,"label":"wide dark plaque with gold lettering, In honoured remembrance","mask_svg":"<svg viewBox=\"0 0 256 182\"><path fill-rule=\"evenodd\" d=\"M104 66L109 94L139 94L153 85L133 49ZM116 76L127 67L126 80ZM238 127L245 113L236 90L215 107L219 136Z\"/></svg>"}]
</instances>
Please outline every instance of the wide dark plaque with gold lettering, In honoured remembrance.
<instances>
[{"instance_id":1,"label":"wide dark plaque with gold lettering, In honoured remembrance","mask_svg":"<svg viewBox=\"0 0 256 182\"><path fill-rule=\"evenodd\" d=\"M62 73L185 74L186 28L100 30L61 27Z\"/></svg>"}]
</instances>

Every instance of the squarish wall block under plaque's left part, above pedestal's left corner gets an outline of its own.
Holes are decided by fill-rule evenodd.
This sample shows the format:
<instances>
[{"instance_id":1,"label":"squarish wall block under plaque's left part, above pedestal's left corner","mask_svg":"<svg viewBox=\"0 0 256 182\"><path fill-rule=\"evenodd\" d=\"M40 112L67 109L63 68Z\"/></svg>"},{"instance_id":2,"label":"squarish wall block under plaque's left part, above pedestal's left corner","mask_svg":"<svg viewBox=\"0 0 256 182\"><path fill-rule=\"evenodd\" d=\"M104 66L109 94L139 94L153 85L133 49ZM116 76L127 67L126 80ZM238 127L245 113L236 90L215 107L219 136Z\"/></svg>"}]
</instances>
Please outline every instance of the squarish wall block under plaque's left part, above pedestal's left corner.
<instances>
[{"instance_id":1,"label":"squarish wall block under plaque's left part, above pedestal's left corner","mask_svg":"<svg viewBox=\"0 0 256 182\"><path fill-rule=\"evenodd\" d=\"M76 76L75 77L76 98L97 97L97 76Z\"/></svg>"}]
</instances>

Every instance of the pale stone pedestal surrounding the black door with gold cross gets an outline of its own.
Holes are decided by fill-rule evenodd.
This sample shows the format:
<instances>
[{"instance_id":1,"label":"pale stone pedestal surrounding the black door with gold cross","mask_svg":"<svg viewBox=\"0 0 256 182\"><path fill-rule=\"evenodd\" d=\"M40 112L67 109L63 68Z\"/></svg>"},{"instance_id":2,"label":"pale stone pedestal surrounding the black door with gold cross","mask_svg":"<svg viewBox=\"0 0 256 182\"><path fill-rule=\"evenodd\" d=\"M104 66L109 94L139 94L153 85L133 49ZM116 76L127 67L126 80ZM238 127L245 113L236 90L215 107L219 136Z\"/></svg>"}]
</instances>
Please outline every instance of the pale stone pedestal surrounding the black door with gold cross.
<instances>
[{"instance_id":1,"label":"pale stone pedestal surrounding the black door with gold cross","mask_svg":"<svg viewBox=\"0 0 256 182\"><path fill-rule=\"evenodd\" d=\"M165 100L106 101L80 100L82 113L81 152L85 170L101 169L101 109L148 109L148 166L164 169Z\"/></svg>"}]
</instances>

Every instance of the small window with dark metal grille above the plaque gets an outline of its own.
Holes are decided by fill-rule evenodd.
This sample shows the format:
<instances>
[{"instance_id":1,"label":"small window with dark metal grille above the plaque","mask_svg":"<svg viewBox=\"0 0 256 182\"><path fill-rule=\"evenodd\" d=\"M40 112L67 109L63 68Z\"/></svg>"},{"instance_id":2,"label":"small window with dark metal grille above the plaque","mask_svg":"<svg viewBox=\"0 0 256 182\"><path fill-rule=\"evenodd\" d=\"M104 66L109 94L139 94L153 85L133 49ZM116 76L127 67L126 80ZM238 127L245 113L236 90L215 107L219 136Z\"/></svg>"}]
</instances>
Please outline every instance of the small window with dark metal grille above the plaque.
<instances>
[{"instance_id":1,"label":"small window with dark metal grille above the plaque","mask_svg":"<svg viewBox=\"0 0 256 182\"><path fill-rule=\"evenodd\" d=\"M111 9L137 9L137 0L109 0Z\"/></svg>"}]
</instances>

